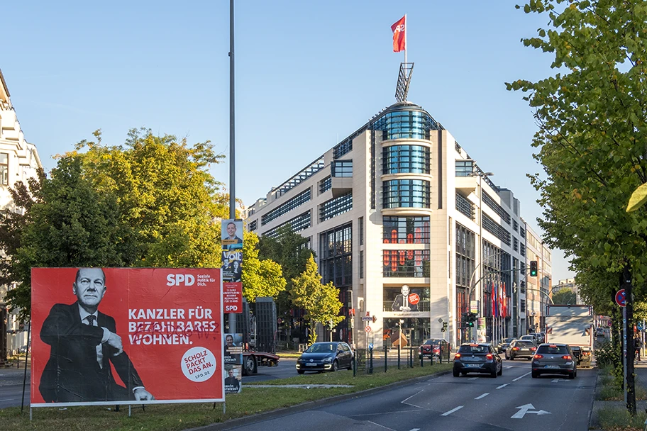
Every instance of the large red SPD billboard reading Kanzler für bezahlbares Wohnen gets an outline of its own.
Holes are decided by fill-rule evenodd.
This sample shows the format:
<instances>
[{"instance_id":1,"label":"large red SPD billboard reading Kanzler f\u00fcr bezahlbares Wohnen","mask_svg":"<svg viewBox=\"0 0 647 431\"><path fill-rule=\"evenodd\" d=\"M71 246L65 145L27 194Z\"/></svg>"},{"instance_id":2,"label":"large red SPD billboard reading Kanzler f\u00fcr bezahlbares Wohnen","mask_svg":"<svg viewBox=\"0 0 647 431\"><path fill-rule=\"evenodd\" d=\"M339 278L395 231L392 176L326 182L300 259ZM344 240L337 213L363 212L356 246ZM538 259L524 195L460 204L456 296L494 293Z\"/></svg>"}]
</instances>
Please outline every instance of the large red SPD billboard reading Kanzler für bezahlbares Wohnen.
<instances>
[{"instance_id":1,"label":"large red SPD billboard reading Kanzler f\u00fcr bezahlbares Wohnen","mask_svg":"<svg viewBox=\"0 0 647 431\"><path fill-rule=\"evenodd\" d=\"M224 401L220 269L33 268L31 405Z\"/></svg>"}]
</instances>

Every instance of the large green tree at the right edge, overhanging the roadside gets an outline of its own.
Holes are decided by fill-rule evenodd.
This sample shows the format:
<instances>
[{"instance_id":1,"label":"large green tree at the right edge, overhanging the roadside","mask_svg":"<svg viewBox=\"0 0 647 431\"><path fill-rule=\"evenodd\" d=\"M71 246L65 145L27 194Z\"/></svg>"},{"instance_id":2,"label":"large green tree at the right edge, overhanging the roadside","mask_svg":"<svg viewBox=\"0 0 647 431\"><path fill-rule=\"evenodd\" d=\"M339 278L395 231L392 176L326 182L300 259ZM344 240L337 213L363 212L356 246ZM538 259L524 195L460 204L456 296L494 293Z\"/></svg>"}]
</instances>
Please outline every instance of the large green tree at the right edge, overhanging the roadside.
<instances>
[{"instance_id":1,"label":"large green tree at the right edge, overhanging the roadside","mask_svg":"<svg viewBox=\"0 0 647 431\"><path fill-rule=\"evenodd\" d=\"M535 109L534 157L544 172L529 177L545 208L539 225L548 245L576 259L578 268L622 273L642 301L646 210L625 207L647 182L645 3L533 0L524 11L547 16L547 28L522 42L550 53L557 69L538 82L507 84L524 91ZM626 311L631 325L631 299ZM627 407L635 414L633 361L628 369Z\"/></svg>"}]
</instances>

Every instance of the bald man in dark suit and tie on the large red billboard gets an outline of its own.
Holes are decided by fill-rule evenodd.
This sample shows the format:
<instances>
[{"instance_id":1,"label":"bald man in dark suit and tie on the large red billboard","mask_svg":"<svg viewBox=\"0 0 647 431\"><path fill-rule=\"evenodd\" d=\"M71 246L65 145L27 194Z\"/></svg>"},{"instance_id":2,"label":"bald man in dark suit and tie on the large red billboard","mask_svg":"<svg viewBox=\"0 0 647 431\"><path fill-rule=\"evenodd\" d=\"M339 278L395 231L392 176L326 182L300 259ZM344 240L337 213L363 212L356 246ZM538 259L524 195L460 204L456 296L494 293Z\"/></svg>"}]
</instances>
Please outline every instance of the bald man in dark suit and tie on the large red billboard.
<instances>
[{"instance_id":1,"label":"bald man in dark suit and tie on the large red billboard","mask_svg":"<svg viewBox=\"0 0 647 431\"><path fill-rule=\"evenodd\" d=\"M72 284L77 301L55 304L40 329L50 359L40 376L40 394L48 403L151 401L116 334L114 318L98 310L106 293L100 268L80 268ZM116 383L116 369L126 387Z\"/></svg>"}]
</instances>

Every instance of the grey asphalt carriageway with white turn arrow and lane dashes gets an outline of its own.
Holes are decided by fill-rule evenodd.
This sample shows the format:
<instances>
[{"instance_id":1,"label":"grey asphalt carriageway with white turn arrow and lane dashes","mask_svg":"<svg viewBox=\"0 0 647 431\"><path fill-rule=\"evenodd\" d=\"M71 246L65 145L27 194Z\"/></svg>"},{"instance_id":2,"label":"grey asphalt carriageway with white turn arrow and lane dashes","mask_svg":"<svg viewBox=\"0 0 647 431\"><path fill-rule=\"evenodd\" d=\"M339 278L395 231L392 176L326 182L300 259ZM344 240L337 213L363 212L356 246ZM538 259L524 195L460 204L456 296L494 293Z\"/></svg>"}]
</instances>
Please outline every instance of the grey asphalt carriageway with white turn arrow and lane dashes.
<instances>
[{"instance_id":1,"label":"grey asphalt carriageway with white turn arrow and lane dashes","mask_svg":"<svg viewBox=\"0 0 647 431\"><path fill-rule=\"evenodd\" d=\"M447 374L231 429L586 431L594 389L595 369L577 370L575 380L532 379L529 361L504 361L496 379Z\"/></svg>"}]
</instances>

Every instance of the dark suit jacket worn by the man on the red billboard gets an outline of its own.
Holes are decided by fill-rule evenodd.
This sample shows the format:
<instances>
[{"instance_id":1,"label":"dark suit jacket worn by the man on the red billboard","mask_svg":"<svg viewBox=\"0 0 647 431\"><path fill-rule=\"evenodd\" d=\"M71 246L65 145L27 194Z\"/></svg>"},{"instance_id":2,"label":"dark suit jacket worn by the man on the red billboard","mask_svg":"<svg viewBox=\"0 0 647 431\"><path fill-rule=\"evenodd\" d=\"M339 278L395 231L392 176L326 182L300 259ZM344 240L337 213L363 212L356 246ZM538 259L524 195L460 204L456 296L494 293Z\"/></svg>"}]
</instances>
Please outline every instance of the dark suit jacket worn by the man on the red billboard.
<instances>
[{"instance_id":1,"label":"dark suit jacket worn by the man on the red billboard","mask_svg":"<svg viewBox=\"0 0 647 431\"><path fill-rule=\"evenodd\" d=\"M144 386L126 352L101 344L106 328L116 333L114 318L98 312L98 326L81 322L78 303L55 304L40 330L40 339L51 347L50 359L40 376L40 394L48 403L134 400L133 388ZM125 344L125 343L124 343ZM96 360L101 345L103 367ZM126 388L116 383L111 366Z\"/></svg>"}]
</instances>

